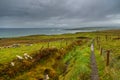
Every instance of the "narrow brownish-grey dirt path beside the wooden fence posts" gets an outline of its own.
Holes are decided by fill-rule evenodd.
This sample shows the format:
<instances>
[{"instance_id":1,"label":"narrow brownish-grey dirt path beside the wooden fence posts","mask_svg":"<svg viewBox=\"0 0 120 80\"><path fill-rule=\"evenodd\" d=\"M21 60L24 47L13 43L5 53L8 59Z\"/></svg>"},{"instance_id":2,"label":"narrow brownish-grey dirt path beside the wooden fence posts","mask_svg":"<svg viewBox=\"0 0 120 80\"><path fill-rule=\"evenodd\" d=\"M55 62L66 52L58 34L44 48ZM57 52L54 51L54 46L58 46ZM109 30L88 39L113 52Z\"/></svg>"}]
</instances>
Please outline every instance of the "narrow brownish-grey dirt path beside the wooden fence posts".
<instances>
[{"instance_id":1,"label":"narrow brownish-grey dirt path beside the wooden fence posts","mask_svg":"<svg viewBox=\"0 0 120 80\"><path fill-rule=\"evenodd\" d=\"M98 69L96 65L96 59L95 59L95 54L94 54L94 44L91 44L91 80L100 80L99 75L98 75Z\"/></svg>"}]
</instances>

